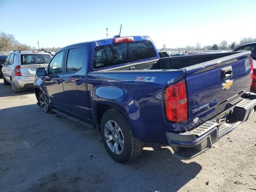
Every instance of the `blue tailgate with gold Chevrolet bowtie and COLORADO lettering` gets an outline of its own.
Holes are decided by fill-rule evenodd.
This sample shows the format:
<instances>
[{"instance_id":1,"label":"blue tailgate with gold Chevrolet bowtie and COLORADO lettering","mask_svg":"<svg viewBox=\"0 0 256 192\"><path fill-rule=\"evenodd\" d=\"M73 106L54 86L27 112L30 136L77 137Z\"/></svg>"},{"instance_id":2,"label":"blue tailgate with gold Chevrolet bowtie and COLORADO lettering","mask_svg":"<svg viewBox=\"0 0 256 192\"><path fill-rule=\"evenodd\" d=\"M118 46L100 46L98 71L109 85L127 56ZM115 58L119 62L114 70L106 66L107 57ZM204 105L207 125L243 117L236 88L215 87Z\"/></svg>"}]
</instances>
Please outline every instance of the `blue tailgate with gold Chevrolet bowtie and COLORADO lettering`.
<instances>
[{"instance_id":1,"label":"blue tailgate with gold Chevrolet bowtie and COLORADO lettering","mask_svg":"<svg viewBox=\"0 0 256 192\"><path fill-rule=\"evenodd\" d=\"M250 52L184 68L188 91L188 130L240 101L250 91Z\"/></svg>"}]
</instances>

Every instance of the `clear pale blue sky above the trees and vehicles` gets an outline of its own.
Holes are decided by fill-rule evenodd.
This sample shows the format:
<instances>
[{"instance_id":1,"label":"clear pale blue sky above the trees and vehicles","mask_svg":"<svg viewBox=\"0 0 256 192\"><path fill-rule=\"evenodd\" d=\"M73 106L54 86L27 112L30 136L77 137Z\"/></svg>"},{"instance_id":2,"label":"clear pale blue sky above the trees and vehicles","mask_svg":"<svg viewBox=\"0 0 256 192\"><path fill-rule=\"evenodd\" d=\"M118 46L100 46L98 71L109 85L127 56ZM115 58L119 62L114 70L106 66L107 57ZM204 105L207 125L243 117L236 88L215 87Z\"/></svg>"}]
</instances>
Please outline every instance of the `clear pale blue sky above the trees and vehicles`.
<instances>
[{"instance_id":1,"label":"clear pale blue sky above the trees and vehicles","mask_svg":"<svg viewBox=\"0 0 256 192\"><path fill-rule=\"evenodd\" d=\"M30 46L147 35L158 48L256 37L256 0L0 0L0 31Z\"/></svg>"}]
</instances>

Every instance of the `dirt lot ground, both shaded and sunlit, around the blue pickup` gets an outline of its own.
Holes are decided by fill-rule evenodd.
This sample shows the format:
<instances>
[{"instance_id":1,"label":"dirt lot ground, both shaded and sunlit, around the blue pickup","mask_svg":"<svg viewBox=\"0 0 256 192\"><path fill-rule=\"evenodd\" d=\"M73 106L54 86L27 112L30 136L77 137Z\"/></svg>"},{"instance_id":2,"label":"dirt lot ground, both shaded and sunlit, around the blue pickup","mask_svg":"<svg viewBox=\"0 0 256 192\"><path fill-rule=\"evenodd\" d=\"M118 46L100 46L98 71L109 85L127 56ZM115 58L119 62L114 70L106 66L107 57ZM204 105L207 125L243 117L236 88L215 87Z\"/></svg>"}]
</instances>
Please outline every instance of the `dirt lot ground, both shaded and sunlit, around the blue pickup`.
<instances>
[{"instance_id":1,"label":"dirt lot ground, both shaded and sunlit, around the blue pickup","mask_svg":"<svg viewBox=\"0 0 256 192\"><path fill-rule=\"evenodd\" d=\"M256 113L192 160L152 146L118 164L97 130L42 112L32 90L13 94L0 79L0 192L32 191L254 192Z\"/></svg>"}]
</instances>

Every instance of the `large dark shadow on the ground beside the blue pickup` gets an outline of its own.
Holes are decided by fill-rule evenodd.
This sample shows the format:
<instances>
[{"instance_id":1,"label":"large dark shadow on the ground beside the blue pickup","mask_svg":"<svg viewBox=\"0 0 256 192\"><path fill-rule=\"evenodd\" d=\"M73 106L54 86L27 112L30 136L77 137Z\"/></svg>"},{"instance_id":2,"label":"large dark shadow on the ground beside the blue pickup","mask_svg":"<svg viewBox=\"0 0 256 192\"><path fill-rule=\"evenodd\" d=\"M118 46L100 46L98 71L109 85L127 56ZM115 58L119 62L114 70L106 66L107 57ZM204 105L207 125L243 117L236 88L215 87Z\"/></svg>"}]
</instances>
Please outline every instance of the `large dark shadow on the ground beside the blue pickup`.
<instances>
[{"instance_id":1,"label":"large dark shadow on the ground beside the blue pickup","mask_svg":"<svg viewBox=\"0 0 256 192\"><path fill-rule=\"evenodd\" d=\"M119 164L108 156L98 130L46 114L37 104L5 108L0 114L3 191L177 191L202 170L197 162L178 160L170 148L158 145Z\"/></svg>"}]
</instances>

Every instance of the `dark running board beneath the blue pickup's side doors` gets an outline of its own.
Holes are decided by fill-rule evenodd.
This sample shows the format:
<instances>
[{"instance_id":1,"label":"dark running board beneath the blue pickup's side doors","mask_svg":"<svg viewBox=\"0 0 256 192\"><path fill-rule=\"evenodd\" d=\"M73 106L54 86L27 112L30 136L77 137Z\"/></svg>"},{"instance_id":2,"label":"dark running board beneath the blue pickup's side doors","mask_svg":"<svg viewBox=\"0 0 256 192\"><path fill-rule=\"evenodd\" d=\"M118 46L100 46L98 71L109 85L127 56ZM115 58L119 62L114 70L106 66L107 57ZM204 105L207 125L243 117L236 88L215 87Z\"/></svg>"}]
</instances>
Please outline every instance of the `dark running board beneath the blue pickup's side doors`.
<instances>
[{"instance_id":1,"label":"dark running board beneath the blue pickup's side doors","mask_svg":"<svg viewBox=\"0 0 256 192\"><path fill-rule=\"evenodd\" d=\"M55 112L57 114L60 114L62 116L65 116L66 118L69 118L70 120L76 121L78 123L83 124L87 128L96 129L96 125L92 122L89 122L88 120L85 120L84 118L80 118L78 116L72 115L69 112L66 112L64 110L58 109L58 108L52 108L52 112Z\"/></svg>"}]
</instances>

